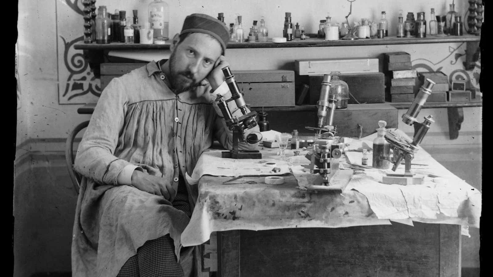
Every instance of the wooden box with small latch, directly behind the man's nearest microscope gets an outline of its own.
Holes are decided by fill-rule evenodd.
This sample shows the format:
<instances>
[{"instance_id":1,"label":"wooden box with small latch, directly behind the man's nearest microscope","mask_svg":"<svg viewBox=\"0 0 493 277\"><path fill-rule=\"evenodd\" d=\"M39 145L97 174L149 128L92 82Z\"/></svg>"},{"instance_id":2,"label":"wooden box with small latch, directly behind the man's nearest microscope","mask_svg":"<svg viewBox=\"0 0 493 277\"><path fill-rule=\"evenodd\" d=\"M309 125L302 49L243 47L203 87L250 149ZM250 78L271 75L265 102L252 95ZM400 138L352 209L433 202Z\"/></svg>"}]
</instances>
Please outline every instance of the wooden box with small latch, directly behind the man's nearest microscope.
<instances>
[{"instance_id":1,"label":"wooden box with small latch, directly behind the man's nearest microscope","mask_svg":"<svg viewBox=\"0 0 493 277\"><path fill-rule=\"evenodd\" d=\"M252 107L294 106L293 70L232 71L246 104Z\"/></svg>"}]
</instances>

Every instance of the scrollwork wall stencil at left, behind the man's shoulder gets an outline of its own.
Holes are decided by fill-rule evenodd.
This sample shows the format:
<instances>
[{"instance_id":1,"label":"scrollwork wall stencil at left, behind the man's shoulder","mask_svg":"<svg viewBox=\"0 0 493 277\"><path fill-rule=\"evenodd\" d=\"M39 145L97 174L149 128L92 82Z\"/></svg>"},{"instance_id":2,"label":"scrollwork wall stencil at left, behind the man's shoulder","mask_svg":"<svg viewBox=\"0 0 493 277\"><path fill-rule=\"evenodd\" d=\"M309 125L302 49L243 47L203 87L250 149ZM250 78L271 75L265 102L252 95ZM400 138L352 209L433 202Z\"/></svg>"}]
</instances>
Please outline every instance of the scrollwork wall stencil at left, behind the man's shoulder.
<instances>
[{"instance_id":1,"label":"scrollwork wall stencil at left, behind the man's shoulder","mask_svg":"<svg viewBox=\"0 0 493 277\"><path fill-rule=\"evenodd\" d=\"M100 79L94 77L82 50L73 49L73 44L84 39L82 1L55 0L55 4L57 18L64 19L57 20L58 104L97 102Z\"/></svg>"}]
</instances>

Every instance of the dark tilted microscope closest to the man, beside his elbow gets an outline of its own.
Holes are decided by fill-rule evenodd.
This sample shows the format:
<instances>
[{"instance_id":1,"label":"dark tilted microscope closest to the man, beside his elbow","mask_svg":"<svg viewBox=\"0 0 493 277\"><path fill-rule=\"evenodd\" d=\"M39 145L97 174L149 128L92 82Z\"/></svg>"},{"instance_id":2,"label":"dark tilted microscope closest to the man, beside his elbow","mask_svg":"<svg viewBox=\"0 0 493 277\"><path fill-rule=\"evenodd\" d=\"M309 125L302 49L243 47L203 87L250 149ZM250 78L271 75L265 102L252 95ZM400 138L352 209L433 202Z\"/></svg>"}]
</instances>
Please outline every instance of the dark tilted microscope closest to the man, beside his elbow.
<instances>
[{"instance_id":1,"label":"dark tilted microscope closest to the man, beside his elbow","mask_svg":"<svg viewBox=\"0 0 493 277\"><path fill-rule=\"evenodd\" d=\"M235 76L231 73L229 67L224 67L221 69L225 78L225 81L231 91L231 98L226 99L224 96L218 94L215 102L226 121L226 126L229 130L233 131L233 149L230 151L223 151L223 158L232 159L262 159L262 153L259 150L240 150L238 149L238 142L247 142L250 144L257 143L260 141L256 134L250 133L246 135L246 130L257 126L257 121L255 116L257 113L255 111L250 111L246 109L245 99L243 98L243 92L240 91L238 84L235 80ZM236 106L242 112L240 117L233 116L231 110L229 109L228 103L235 101Z\"/></svg>"}]
</instances>

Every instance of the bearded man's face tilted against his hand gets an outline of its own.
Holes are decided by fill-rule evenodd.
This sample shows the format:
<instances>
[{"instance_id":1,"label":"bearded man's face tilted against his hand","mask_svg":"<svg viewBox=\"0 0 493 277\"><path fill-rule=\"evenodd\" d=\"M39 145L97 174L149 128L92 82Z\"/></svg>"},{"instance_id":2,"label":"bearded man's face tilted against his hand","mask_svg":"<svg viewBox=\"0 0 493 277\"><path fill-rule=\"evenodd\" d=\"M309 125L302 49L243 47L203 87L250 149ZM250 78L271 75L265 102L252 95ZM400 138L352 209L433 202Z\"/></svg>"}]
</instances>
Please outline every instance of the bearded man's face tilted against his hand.
<instances>
[{"instance_id":1,"label":"bearded man's face tilted against his hand","mask_svg":"<svg viewBox=\"0 0 493 277\"><path fill-rule=\"evenodd\" d=\"M221 55L221 44L203 33L188 35L178 43L170 57L171 82L176 93L199 86Z\"/></svg>"}]
</instances>

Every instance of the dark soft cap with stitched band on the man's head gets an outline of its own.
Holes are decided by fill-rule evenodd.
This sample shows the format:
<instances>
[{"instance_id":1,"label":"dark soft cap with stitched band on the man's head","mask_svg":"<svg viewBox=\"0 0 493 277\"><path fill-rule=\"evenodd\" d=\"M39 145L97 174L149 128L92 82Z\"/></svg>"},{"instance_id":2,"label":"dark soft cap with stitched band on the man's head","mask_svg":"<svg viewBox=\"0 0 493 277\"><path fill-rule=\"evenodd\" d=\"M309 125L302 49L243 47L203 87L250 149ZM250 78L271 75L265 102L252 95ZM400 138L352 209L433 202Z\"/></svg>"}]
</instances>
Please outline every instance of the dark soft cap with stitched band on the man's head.
<instances>
[{"instance_id":1,"label":"dark soft cap with stitched band on the man's head","mask_svg":"<svg viewBox=\"0 0 493 277\"><path fill-rule=\"evenodd\" d=\"M202 13L194 13L185 18L180 35L186 33L204 33L212 35L221 44L222 50L226 50L229 41L229 29L218 20Z\"/></svg>"}]
</instances>

